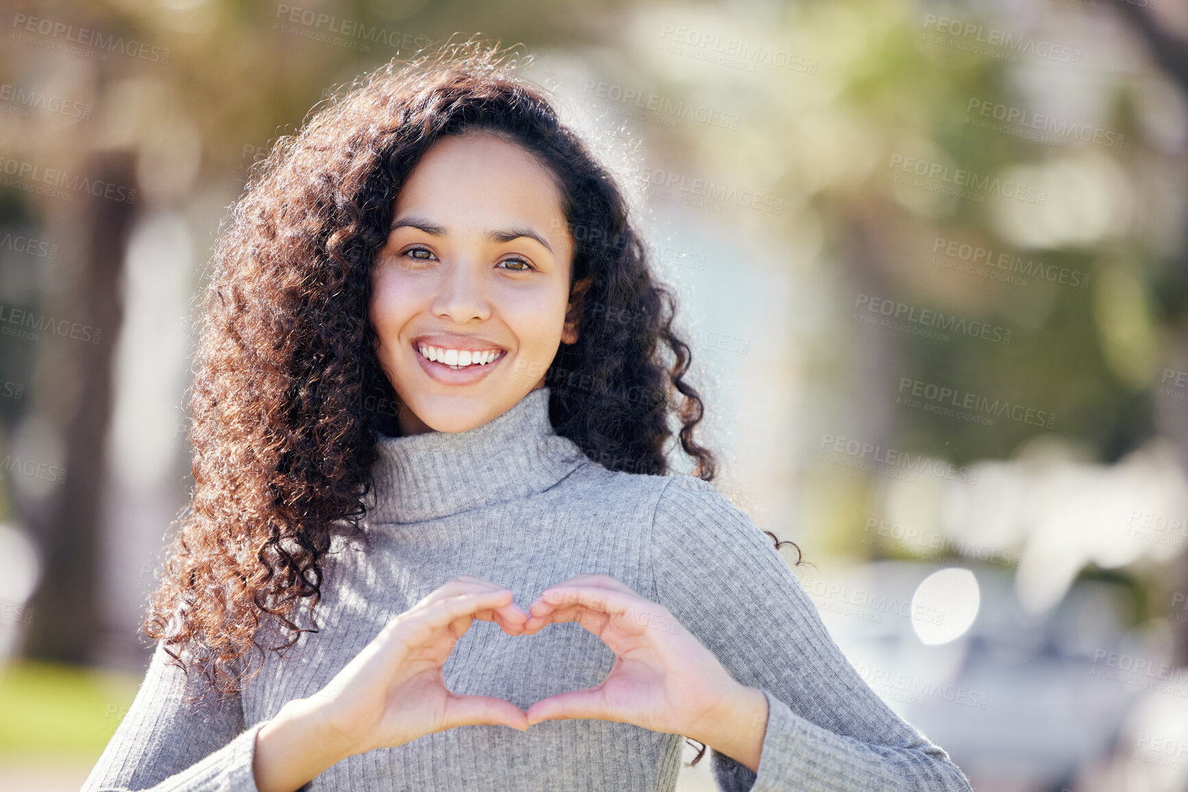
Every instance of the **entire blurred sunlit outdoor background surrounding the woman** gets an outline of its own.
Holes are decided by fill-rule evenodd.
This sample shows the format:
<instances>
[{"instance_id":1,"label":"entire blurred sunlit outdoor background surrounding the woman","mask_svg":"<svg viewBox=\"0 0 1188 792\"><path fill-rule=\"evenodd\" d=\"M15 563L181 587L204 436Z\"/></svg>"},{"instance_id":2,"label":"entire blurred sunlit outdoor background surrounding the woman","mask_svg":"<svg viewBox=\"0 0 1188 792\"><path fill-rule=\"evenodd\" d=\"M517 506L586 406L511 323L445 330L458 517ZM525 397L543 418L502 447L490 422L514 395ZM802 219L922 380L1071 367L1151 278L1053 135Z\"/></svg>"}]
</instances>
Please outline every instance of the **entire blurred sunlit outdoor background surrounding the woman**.
<instances>
[{"instance_id":1,"label":"entire blurred sunlit outdoor background surrounding the woman","mask_svg":"<svg viewBox=\"0 0 1188 792\"><path fill-rule=\"evenodd\" d=\"M192 299L252 163L365 71L479 36L632 196L716 483L804 549L876 691L979 790L1188 790L1184 4L126 0L0 25L4 788L76 788L144 673Z\"/></svg>"}]
</instances>

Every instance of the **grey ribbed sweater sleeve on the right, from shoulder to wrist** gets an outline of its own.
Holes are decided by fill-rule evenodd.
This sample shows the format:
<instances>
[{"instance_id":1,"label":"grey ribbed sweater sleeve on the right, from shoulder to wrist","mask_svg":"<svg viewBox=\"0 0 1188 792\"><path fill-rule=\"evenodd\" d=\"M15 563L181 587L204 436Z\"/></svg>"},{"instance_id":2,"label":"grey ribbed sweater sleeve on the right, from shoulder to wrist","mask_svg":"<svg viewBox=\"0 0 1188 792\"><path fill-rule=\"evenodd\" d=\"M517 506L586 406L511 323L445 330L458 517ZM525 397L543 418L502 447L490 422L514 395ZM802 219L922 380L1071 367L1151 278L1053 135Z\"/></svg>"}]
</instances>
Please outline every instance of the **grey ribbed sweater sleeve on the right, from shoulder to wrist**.
<instances>
[{"instance_id":1,"label":"grey ribbed sweater sleeve on the right, from shoulder to wrist","mask_svg":"<svg viewBox=\"0 0 1188 792\"><path fill-rule=\"evenodd\" d=\"M770 537L712 484L669 477L650 552L657 601L767 698L758 774L710 750L719 790L971 788L858 676Z\"/></svg>"}]
</instances>

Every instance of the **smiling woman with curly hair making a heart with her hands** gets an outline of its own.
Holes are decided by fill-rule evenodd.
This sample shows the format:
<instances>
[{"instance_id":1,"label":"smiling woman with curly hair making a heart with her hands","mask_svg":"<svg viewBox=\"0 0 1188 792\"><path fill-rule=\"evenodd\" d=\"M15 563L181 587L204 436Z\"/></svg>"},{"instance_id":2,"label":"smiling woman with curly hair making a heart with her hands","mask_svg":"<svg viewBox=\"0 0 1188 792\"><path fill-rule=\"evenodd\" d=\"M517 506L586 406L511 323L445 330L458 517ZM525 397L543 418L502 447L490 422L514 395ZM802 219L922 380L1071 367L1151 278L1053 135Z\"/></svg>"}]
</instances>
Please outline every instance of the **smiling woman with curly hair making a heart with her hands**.
<instances>
[{"instance_id":1,"label":"smiling woman with curly hair making a heart with her hands","mask_svg":"<svg viewBox=\"0 0 1188 792\"><path fill-rule=\"evenodd\" d=\"M671 790L682 735L723 790L969 788L707 483L672 300L499 56L371 75L233 218L157 651L86 790Z\"/></svg>"}]
</instances>

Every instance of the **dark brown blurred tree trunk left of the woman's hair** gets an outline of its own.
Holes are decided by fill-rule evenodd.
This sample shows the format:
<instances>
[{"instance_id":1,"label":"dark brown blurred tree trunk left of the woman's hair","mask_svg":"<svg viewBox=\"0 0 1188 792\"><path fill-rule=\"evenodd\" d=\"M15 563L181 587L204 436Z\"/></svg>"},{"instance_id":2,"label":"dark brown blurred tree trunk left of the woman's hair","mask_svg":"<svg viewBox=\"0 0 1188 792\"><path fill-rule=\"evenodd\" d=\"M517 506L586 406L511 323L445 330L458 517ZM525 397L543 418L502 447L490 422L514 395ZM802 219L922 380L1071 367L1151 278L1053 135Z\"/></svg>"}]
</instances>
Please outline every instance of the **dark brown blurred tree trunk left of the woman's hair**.
<instances>
[{"instance_id":1,"label":"dark brown blurred tree trunk left of the woman's hair","mask_svg":"<svg viewBox=\"0 0 1188 792\"><path fill-rule=\"evenodd\" d=\"M134 158L128 152L95 152L87 176L133 186ZM99 343L63 340L69 365L80 378L70 414L56 414L65 444L67 477L49 508L33 515L40 545L42 579L31 607L33 621L25 654L31 658L87 663L99 634L99 508L103 456L113 399L113 359L124 317L124 258L134 216L133 204L87 196L80 202L78 271L56 316L102 330ZM64 387L70 387L64 385Z\"/></svg>"}]
</instances>

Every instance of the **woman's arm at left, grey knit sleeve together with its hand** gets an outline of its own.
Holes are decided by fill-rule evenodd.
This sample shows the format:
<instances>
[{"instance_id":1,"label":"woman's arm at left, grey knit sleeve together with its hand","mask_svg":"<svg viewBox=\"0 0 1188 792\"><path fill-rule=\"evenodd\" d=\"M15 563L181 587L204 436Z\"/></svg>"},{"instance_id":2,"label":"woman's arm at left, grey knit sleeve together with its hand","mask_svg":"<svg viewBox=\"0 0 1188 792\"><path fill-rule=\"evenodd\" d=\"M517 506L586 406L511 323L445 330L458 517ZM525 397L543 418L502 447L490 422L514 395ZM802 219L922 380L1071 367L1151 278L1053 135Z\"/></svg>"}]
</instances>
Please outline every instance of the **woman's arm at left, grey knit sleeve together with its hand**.
<instances>
[{"instance_id":1,"label":"woman's arm at left, grey knit sleeve together with its hand","mask_svg":"<svg viewBox=\"0 0 1188 792\"><path fill-rule=\"evenodd\" d=\"M185 676L158 645L82 792L292 792L347 756L425 734L480 723L526 730L511 702L446 686L442 665L476 619L518 635L527 615L508 589L456 577L392 619L317 693L290 699L247 730L239 697L208 696L209 707L191 711Z\"/></svg>"}]
</instances>

